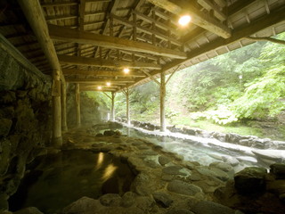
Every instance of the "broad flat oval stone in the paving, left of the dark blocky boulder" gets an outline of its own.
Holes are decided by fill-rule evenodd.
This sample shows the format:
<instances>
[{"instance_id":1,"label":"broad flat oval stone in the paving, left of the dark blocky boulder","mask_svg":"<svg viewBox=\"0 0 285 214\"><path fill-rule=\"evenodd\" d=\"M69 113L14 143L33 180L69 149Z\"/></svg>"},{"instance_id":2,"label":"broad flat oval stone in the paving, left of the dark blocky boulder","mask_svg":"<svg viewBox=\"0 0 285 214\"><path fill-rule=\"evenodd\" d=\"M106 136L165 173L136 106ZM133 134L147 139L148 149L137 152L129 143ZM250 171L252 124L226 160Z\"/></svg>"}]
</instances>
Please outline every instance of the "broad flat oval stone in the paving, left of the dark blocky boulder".
<instances>
[{"instance_id":1,"label":"broad flat oval stone in the paving, left of the dark blocky boulder","mask_svg":"<svg viewBox=\"0 0 285 214\"><path fill-rule=\"evenodd\" d=\"M167 190L173 193L180 193L186 195L195 195L196 193L202 193L201 188L197 185L191 185L181 180L173 180L167 185Z\"/></svg>"}]
</instances>

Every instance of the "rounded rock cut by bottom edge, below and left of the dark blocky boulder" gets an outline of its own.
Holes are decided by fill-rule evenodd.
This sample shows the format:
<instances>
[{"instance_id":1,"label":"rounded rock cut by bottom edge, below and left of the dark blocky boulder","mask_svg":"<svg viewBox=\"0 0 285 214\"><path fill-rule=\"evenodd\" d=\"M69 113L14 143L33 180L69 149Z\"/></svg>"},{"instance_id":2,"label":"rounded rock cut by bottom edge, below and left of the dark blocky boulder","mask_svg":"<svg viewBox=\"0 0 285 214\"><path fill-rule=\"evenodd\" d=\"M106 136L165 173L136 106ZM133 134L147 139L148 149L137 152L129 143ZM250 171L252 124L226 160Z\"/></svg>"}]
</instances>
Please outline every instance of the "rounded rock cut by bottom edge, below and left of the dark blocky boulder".
<instances>
[{"instance_id":1,"label":"rounded rock cut by bottom edge, below and left of the dark blocky boulder","mask_svg":"<svg viewBox=\"0 0 285 214\"><path fill-rule=\"evenodd\" d=\"M234 214L235 210L216 202L202 201L195 204L191 211L195 214Z\"/></svg>"}]
</instances>

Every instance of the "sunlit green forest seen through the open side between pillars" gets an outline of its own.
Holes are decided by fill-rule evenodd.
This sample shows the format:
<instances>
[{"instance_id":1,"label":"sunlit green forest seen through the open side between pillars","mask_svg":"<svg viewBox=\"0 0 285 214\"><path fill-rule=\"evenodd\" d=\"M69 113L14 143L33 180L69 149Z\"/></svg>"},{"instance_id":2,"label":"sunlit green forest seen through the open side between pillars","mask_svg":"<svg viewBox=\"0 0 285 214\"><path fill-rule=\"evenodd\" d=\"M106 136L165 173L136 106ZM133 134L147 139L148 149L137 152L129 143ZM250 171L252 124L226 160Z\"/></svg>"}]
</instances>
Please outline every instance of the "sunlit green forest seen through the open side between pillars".
<instances>
[{"instance_id":1,"label":"sunlit green forest seen through the open side between pillars","mask_svg":"<svg viewBox=\"0 0 285 214\"><path fill-rule=\"evenodd\" d=\"M285 33L276 38L285 40ZM110 107L107 96L92 96ZM167 84L166 103L167 125L284 140L285 46L256 42L177 71ZM126 117L124 94L115 105L116 117ZM159 124L154 81L131 89L130 112L131 119Z\"/></svg>"}]
</instances>

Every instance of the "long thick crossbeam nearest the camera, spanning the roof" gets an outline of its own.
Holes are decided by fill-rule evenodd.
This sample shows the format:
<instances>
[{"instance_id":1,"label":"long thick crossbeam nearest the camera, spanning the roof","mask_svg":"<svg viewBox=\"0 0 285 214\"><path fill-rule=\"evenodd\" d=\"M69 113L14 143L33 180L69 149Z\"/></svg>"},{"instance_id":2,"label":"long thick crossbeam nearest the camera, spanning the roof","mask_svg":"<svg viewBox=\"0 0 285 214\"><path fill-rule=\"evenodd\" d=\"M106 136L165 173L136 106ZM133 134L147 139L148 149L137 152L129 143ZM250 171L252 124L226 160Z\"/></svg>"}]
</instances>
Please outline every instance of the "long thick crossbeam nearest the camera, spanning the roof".
<instances>
[{"instance_id":1,"label":"long thick crossbeam nearest the camera, spanning the roof","mask_svg":"<svg viewBox=\"0 0 285 214\"><path fill-rule=\"evenodd\" d=\"M55 40L76 42L78 44L98 45L107 48L130 50L134 52L151 53L176 59L186 58L186 53L180 51L145 44L142 42L131 41L119 37L109 37L89 32L82 32L77 29L66 29L55 25L49 25L49 33L50 36Z\"/></svg>"}]
</instances>

